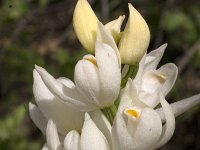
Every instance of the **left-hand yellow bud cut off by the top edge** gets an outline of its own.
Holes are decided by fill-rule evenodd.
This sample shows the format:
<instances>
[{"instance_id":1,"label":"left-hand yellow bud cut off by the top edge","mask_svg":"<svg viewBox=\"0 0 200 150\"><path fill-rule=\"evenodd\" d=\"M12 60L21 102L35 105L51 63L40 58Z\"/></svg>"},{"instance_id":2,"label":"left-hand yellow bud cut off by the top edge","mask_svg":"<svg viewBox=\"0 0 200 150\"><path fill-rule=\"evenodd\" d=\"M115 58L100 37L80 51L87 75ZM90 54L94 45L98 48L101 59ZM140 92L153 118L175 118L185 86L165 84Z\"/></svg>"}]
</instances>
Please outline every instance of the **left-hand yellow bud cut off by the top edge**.
<instances>
[{"instance_id":1,"label":"left-hand yellow bud cut off by the top edge","mask_svg":"<svg viewBox=\"0 0 200 150\"><path fill-rule=\"evenodd\" d=\"M98 18L88 1L78 0L73 15L73 26L79 41L90 53L94 53L95 49L97 21Z\"/></svg>"}]
</instances>

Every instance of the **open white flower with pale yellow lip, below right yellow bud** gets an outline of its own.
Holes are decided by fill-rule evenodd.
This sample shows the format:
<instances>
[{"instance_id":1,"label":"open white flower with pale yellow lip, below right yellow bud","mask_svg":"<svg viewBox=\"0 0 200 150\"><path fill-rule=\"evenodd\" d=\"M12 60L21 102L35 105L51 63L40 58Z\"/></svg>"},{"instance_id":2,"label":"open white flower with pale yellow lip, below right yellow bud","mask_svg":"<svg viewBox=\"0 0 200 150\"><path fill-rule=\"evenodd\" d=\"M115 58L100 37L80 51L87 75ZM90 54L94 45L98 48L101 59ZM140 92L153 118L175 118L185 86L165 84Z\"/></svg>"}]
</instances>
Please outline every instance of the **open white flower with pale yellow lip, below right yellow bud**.
<instances>
[{"instance_id":1,"label":"open white flower with pale yellow lip, below right yellow bud","mask_svg":"<svg viewBox=\"0 0 200 150\"><path fill-rule=\"evenodd\" d=\"M139 99L152 108L158 105L160 92L164 97L168 94L178 74L178 69L173 63L167 63L157 69L166 46L167 44L164 44L149 54L145 54L134 78Z\"/></svg>"}]
</instances>

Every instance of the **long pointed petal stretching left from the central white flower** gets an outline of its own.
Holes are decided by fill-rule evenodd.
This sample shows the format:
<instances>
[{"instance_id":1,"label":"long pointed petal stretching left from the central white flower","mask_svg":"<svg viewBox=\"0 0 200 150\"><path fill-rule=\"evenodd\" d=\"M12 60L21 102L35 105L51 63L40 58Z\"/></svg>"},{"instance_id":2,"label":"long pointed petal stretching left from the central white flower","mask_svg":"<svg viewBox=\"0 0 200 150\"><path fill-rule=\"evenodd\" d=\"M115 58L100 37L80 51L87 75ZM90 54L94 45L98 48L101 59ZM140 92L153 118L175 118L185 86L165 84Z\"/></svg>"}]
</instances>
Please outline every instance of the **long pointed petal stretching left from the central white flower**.
<instances>
[{"instance_id":1,"label":"long pointed petal stretching left from the central white flower","mask_svg":"<svg viewBox=\"0 0 200 150\"><path fill-rule=\"evenodd\" d=\"M81 97L80 93L75 88L63 86L42 67L35 66L35 68L49 91L55 94L59 99L65 101L68 105L71 105L71 107L76 107L81 111L94 109L93 106L88 105L87 102L84 101L84 98Z\"/></svg>"}]
</instances>

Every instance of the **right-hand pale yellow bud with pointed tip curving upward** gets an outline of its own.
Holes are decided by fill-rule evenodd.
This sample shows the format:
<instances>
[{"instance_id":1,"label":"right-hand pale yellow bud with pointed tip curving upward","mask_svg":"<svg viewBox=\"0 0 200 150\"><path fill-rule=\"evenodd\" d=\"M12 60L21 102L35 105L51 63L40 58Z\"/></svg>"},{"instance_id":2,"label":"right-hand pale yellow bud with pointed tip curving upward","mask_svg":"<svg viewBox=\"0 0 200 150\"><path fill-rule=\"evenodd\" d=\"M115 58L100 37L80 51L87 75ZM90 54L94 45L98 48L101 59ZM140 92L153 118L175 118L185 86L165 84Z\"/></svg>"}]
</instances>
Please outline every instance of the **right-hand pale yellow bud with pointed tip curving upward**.
<instances>
[{"instance_id":1,"label":"right-hand pale yellow bud with pointed tip curving upward","mask_svg":"<svg viewBox=\"0 0 200 150\"><path fill-rule=\"evenodd\" d=\"M150 31L140 13L129 4L129 18L122 34L119 51L122 64L134 65L145 54L150 40Z\"/></svg>"}]
</instances>

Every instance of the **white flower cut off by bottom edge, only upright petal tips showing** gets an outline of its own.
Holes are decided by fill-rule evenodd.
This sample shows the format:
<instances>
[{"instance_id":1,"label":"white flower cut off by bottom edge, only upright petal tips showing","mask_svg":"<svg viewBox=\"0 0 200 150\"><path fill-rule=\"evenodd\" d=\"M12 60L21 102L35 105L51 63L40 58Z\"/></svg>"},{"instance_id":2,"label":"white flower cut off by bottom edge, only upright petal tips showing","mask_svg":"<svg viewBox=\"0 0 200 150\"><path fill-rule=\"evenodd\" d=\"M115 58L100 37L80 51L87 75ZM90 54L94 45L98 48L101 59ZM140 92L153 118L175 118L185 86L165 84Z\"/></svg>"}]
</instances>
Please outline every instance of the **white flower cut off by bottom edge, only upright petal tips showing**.
<instances>
[{"instance_id":1,"label":"white flower cut off by bottom edge, only upright petal tips showing","mask_svg":"<svg viewBox=\"0 0 200 150\"><path fill-rule=\"evenodd\" d=\"M46 136L47 144L43 146L43 150L110 150L106 137L88 113L85 113L81 133L76 130L70 131L65 136L64 143L60 142L56 124L52 120L48 121Z\"/></svg>"}]
</instances>

